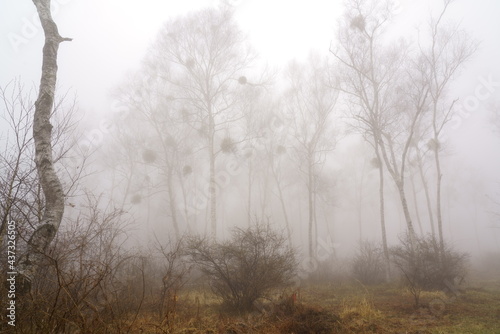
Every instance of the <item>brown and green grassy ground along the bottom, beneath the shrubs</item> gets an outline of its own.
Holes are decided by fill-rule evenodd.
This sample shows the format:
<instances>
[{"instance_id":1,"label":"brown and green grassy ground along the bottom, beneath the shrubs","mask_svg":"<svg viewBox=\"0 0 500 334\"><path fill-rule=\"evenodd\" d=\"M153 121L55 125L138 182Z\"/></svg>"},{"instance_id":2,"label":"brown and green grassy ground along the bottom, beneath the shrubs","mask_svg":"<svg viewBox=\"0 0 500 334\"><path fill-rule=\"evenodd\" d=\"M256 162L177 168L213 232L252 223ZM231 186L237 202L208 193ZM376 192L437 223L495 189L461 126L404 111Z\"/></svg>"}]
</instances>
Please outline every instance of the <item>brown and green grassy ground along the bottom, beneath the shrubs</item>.
<instances>
[{"instance_id":1,"label":"brown and green grassy ground along the bottom, beneath the shrubs","mask_svg":"<svg viewBox=\"0 0 500 334\"><path fill-rule=\"evenodd\" d=\"M152 313L134 325L138 333L477 333L500 334L500 281L460 291L423 292L421 306L397 285L315 284L263 304L260 312L231 314L204 290L177 298L167 317Z\"/></svg>"}]
</instances>

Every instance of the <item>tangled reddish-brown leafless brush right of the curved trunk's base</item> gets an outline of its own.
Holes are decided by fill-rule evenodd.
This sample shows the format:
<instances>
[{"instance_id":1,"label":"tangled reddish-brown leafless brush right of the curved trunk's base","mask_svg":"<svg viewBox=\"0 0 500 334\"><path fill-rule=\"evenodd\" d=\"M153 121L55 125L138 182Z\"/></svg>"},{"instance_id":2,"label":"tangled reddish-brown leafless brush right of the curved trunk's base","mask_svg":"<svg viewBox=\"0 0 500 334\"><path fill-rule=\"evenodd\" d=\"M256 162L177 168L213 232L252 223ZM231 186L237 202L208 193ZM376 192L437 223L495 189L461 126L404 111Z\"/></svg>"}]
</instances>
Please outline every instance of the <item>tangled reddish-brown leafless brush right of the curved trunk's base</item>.
<instances>
[{"instance_id":1,"label":"tangled reddish-brown leafless brush right of the curved trunk's base","mask_svg":"<svg viewBox=\"0 0 500 334\"><path fill-rule=\"evenodd\" d=\"M32 282L21 296L19 333L121 332L121 312L114 288L120 268L132 257L125 252L126 226L120 210L100 208L89 196L82 213L67 219Z\"/></svg>"}]
</instances>

